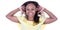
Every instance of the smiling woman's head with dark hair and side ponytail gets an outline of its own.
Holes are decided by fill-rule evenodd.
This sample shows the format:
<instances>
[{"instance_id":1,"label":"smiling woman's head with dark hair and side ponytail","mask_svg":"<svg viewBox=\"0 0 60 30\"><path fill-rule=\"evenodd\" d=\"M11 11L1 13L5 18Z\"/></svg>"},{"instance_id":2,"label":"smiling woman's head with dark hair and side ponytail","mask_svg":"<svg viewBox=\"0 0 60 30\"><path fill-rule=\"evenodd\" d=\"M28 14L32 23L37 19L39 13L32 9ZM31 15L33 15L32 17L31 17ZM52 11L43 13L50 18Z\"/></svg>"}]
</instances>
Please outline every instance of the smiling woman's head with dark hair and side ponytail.
<instances>
[{"instance_id":1,"label":"smiling woman's head with dark hair and side ponytail","mask_svg":"<svg viewBox=\"0 0 60 30\"><path fill-rule=\"evenodd\" d=\"M39 4L35 1L27 1L25 2L22 6L25 7L25 14L28 17L34 17L34 21L38 22L39 21L39 17L38 17L38 6Z\"/></svg>"}]
</instances>

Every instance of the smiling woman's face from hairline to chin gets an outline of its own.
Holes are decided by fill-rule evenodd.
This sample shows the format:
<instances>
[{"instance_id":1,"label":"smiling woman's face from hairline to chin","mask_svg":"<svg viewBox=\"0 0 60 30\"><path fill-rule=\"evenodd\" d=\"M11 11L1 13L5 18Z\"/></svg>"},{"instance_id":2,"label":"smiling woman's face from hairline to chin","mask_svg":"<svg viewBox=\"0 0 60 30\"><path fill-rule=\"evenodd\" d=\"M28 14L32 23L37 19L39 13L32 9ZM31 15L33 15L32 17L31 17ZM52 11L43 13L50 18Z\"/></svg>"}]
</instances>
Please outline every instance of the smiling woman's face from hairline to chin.
<instances>
[{"instance_id":1,"label":"smiling woman's face from hairline to chin","mask_svg":"<svg viewBox=\"0 0 60 30\"><path fill-rule=\"evenodd\" d=\"M34 17L36 11L37 9L34 4L30 3L26 6L26 15L28 15L28 17Z\"/></svg>"}]
</instances>

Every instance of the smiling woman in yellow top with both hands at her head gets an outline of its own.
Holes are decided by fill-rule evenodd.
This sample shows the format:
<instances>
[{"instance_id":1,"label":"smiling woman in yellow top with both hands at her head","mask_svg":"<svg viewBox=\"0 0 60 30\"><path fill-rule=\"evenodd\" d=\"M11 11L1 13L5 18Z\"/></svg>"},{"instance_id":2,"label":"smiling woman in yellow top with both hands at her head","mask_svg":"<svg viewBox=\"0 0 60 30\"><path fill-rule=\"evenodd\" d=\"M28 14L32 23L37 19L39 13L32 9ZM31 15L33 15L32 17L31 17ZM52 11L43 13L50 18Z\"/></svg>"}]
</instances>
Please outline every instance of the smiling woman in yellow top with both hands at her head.
<instances>
[{"instance_id":1,"label":"smiling woman in yellow top with both hands at her head","mask_svg":"<svg viewBox=\"0 0 60 30\"><path fill-rule=\"evenodd\" d=\"M18 11L22 11L25 16L14 16ZM45 18L42 14L47 13L49 18ZM40 16L39 16L40 15ZM21 30L42 30L43 24L49 24L57 20L56 16L41 7L35 1L27 1L20 8L17 8L6 15L8 19L19 23Z\"/></svg>"}]
</instances>

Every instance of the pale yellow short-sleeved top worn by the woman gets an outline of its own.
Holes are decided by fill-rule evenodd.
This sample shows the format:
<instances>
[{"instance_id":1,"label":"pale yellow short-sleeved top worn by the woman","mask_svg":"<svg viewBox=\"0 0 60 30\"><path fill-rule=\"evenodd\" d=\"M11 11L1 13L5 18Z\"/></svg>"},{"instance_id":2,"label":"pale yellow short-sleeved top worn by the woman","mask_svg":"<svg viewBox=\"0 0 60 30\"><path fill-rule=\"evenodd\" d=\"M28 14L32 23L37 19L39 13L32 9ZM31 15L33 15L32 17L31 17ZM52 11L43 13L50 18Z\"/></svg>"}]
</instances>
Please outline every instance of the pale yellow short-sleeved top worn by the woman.
<instances>
[{"instance_id":1,"label":"pale yellow short-sleeved top worn by the woman","mask_svg":"<svg viewBox=\"0 0 60 30\"><path fill-rule=\"evenodd\" d=\"M28 21L24 16L17 16L20 23L18 23L18 27L20 30L43 30L45 27L44 21L45 17L40 16L39 24L35 24L33 21Z\"/></svg>"}]
</instances>

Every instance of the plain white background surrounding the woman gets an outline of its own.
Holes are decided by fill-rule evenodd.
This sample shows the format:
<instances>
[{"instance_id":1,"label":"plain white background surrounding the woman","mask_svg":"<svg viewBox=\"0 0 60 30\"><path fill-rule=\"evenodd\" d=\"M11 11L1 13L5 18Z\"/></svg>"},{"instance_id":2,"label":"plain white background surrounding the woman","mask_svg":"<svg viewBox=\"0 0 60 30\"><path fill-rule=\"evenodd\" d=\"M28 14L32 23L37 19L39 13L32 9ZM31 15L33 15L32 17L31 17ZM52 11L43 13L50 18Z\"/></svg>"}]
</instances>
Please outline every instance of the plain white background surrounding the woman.
<instances>
[{"instance_id":1,"label":"plain white background surrounding the woman","mask_svg":"<svg viewBox=\"0 0 60 30\"><path fill-rule=\"evenodd\" d=\"M19 30L17 23L6 18L12 10L20 7L29 0L0 0L0 30ZM60 0L33 0L41 6L51 11L58 19L54 23L48 24L45 30L60 30ZM18 14L19 15L19 14Z\"/></svg>"}]
</instances>

